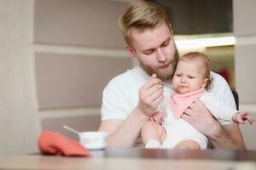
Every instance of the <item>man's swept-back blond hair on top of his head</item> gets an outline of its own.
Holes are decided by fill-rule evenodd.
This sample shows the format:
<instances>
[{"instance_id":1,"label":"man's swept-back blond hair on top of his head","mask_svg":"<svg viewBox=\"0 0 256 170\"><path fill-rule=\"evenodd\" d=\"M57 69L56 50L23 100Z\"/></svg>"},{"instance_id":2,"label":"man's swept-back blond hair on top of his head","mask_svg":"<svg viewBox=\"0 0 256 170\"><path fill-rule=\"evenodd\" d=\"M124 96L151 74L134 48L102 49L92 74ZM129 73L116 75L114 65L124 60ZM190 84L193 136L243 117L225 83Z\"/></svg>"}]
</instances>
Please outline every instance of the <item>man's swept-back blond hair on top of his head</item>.
<instances>
[{"instance_id":1,"label":"man's swept-back blond hair on top of his head","mask_svg":"<svg viewBox=\"0 0 256 170\"><path fill-rule=\"evenodd\" d=\"M127 8L125 14L120 16L119 29L125 39L125 42L132 45L130 35L131 28L154 28L156 26L160 26L163 22L169 26L169 29L172 32L172 28L164 8L161 8L155 3L139 1L131 4L131 6Z\"/></svg>"}]
</instances>

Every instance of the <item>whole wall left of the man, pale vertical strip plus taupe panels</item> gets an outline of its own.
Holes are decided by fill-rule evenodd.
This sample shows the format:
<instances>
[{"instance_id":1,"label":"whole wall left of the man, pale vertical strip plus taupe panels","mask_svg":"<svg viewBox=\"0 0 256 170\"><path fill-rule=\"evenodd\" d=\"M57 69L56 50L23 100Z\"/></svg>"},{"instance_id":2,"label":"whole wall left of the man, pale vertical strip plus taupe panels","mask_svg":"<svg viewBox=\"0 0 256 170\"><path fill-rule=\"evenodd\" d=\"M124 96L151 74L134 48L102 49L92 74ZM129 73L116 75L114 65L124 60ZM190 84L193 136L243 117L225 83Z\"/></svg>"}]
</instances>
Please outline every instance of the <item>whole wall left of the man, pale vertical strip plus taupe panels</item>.
<instances>
[{"instance_id":1,"label":"whole wall left of the man, pale vertical strip plus taupe panels","mask_svg":"<svg viewBox=\"0 0 256 170\"><path fill-rule=\"evenodd\" d=\"M103 87L132 65L117 26L127 4L1 1L0 156L38 151L40 125L96 130Z\"/></svg>"}]
</instances>

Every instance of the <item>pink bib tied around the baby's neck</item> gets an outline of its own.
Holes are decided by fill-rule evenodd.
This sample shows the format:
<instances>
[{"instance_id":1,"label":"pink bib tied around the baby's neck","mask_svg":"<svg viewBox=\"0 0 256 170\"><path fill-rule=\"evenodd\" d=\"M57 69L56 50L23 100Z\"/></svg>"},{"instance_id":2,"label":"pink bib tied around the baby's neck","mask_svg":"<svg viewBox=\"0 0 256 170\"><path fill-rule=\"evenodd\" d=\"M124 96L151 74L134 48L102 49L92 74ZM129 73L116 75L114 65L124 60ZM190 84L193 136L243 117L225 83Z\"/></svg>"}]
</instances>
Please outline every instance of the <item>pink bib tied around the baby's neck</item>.
<instances>
[{"instance_id":1,"label":"pink bib tied around the baby's neck","mask_svg":"<svg viewBox=\"0 0 256 170\"><path fill-rule=\"evenodd\" d=\"M177 119L183 115L183 112L191 105L195 99L201 97L207 90L199 88L187 94L177 94L174 92L170 99L171 111L173 116Z\"/></svg>"}]
</instances>

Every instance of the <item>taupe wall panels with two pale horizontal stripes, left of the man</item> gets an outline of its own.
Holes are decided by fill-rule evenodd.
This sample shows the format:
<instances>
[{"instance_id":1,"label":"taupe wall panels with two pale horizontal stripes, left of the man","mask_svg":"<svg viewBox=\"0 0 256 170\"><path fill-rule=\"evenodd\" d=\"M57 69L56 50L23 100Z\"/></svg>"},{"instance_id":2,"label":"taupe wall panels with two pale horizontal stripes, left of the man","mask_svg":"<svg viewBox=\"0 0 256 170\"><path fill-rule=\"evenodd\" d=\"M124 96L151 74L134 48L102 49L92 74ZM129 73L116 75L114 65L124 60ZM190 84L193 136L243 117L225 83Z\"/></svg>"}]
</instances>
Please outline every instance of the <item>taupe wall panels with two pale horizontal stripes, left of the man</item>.
<instances>
[{"instance_id":1,"label":"taupe wall panels with two pale horizontal stripes, left of the man","mask_svg":"<svg viewBox=\"0 0 256 170\"><path fill-rule=\"evenodd\" d=\"M103 88L132 66L117 23L127 5L111 0L35 1L34 57L43 130L68 136L63 124L97 130Z\"/></svg>"}]
</instances>

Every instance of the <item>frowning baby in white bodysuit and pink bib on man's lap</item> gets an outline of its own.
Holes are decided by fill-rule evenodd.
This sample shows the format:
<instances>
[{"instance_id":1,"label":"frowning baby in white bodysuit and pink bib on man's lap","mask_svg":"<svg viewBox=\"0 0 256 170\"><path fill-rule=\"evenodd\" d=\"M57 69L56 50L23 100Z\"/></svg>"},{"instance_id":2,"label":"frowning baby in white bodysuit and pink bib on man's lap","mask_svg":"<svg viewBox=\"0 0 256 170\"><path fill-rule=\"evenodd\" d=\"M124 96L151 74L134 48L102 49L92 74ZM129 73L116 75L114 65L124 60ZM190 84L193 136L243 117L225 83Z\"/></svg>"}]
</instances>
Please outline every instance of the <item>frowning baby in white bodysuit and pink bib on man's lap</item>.
<instances>
[{"instance_id":1,"label":"frowning baby in white bodysuit and pink bib on man's lap","mask_svg":"<svg viewBox=\"0 0 256 170\"><path fill-rule=\"evenodd\" d=\"M146 148L207 149L207 137L180 118L195 99L200 99L217 120L241 124L254 122L247 112L236 111L208 93L210 82L210 60L205 54L193 52L178 60L172 78L174 92L171 99L164 100L158 107L158 111L166 113L164 128L148 127L147 123L142 128ZM160 122L159 114L151 120Z\"/></svg>"}]
</instances>

